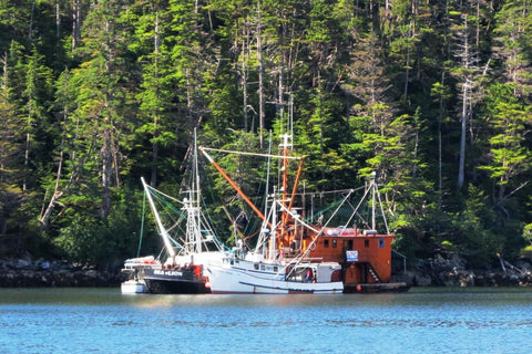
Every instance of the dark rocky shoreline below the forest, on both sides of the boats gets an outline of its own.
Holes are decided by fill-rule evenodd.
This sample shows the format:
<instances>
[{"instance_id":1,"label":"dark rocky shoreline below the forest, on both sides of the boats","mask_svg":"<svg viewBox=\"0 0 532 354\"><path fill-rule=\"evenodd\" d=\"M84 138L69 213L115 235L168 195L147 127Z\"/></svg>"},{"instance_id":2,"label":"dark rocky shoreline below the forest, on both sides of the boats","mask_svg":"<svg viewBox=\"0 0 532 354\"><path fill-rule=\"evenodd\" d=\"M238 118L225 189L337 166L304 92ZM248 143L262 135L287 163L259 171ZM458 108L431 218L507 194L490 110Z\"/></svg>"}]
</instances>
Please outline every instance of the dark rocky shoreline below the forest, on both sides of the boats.
<instances>
[{"instance_id":1,"label":"dark rocky shoreline below the forest, on both sides of the boats","mask_svg":"<svg viewBox=\"0 0 532 354\"><path fill-rule=\"evenodd\" d=\"M395 277L410 287L532 287L532 259L520 258L511 264L502 258L500 267L471 270L453 253L439 253L419 260L415 269ZM499 264L498 264L499 266ZM0 288L39 287L120 287L126 275L119 270L102 271L95 267L31 256L0 259Z\"/></svg>"}]
</instances>

